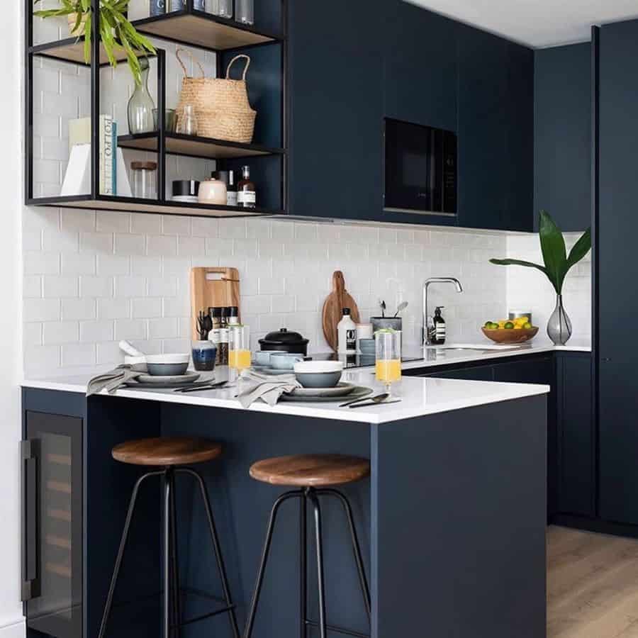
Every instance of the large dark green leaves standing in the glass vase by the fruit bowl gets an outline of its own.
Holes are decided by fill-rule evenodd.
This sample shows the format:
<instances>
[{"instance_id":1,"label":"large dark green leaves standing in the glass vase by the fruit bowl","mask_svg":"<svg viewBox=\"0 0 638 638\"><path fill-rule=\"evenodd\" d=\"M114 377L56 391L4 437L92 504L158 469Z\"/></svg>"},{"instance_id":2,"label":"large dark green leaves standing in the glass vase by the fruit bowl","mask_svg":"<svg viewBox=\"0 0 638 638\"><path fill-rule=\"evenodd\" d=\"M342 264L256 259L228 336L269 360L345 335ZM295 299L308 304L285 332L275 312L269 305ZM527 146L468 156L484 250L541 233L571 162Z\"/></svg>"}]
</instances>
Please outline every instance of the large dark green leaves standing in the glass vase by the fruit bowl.
<instances>
[{"instance_id":1,"label":"large dark green leaves standing in the glass vase by the fruit bowl","mask_svg":"<svg viewBox=\"0 0 638 638\"><path fill-rule=\"evenodd\" d=\"M588 228L576 244L573 245L568 256L565 238L552 216L547 211L541 211L539 220L539 236L544 266L533 262L525 262L521 259L490 259L490 262L498 266L536 268L547 276L547 279L552 282L556 294L559 295L563 290L563 282L571 267L578 264L591 250L591 228Z\"/></svg>"}]
</instances>

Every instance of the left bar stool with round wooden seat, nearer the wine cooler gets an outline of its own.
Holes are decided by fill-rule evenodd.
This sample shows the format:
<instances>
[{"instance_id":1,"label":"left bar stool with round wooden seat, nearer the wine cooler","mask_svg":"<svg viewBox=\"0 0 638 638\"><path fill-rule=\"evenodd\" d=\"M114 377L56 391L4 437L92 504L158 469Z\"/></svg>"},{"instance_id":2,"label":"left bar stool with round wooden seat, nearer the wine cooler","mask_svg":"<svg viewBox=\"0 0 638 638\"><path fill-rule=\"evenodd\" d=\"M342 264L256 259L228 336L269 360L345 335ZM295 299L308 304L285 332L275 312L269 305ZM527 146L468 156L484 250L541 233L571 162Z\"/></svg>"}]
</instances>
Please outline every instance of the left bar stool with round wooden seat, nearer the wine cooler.
<instances>
[{"instance_id":1,"label":"left bar stool with round wooden seat, nearer the wine cooler","mask_svg":"<svg viewBox=\"0 0 638 638\"><path fill-rule=\"evenodd\" d=\"M113 593L115 592L118 573L122 563L128 532L131 520L133 520L133 512L135 510L135 500L138 498L138 491L142 483L151 476L161 476L164 484L164 547L162 550L164 570L163 570L163 631L162 638L169 638L173 633L175 637L179 636L179 627L181 625L191 624L198 620L220 613L228 613L230 618L230 626L233 630L234 638L239 638L240 632L237 626L237 617L235 616L235 605L230 598L230 589L228 587L228 578L224 562L220 550L219 539L211 510L211 503L208 500L208 491L206 491L206 483L204 483L201 475L194 469L184 467L186 464L203 463L212 461L220 456L222 447L219 443L206 439L197 439L189 437L160 437L157 439L141 439L137 441L127 441L113 447L111 454L113 459L121 463L139 466L161 467L161 470L150 471L143 474L135 482L133 493L130 497L128 505L128 513L126 522L124 523L124 531L118 549L115 569L113 570L113 578L111 578L111 586L108 589L106 597L106 605L104 605L104 613L100 626L99 638L104 638L106 632L106 623L111 613L111 605L113 605ZM217 567L220 573L223 595L225 600L225 608L216 610L215 612L191 618L187 622L181 622L181 612L179 604L179 571L177 561L177 517L175 514L175 475L188 474L193 477L199 485L199 491L203 500L204 509L206 510L206 518L208 519L208 527L211 532L211 541L213 542L213 551L217 561Z\"/></svg>"}]
</instances>

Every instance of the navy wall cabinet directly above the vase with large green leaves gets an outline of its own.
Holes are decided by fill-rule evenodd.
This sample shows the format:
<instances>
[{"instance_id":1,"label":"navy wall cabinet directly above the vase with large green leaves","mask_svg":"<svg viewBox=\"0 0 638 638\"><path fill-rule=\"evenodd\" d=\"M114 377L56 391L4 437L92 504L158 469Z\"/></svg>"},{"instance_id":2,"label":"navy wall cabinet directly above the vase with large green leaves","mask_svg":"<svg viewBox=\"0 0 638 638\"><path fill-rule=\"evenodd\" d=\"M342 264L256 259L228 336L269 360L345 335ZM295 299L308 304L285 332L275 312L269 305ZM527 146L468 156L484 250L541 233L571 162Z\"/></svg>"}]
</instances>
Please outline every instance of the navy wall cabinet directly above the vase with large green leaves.
<instances>
[{"instance_id":1,"label":"navy wall cabinet directly above the vase with large green leaves","mask_svg":"<svg viewBox=\"0 0 638 638\"><path fill-rule=\"evenodd\" d=\"M591 44L535 52L535 192L562 230L591 225Z\"/></svg>"}]
</instances>

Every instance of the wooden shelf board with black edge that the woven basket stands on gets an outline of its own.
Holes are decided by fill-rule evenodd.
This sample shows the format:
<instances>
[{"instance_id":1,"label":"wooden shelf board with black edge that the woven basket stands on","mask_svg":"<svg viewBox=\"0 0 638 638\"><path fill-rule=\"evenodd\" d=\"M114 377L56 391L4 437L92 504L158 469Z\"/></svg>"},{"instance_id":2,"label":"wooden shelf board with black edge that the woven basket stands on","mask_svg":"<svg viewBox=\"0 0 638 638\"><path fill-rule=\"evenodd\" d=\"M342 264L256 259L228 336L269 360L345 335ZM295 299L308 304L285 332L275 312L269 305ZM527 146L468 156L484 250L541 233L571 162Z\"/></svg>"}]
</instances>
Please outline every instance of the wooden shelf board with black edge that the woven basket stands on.
<instances>
[{"instance_id":1,"label":"wooden shelf board with black edge that the woven basket stands on","mask_svg":"<svg viewBox=\"0 0 638 638\"><path fill-rule=\"evenodd\" d=\"M121 148L157 151L157 134L121 135L118 138ZM206 159L238 159L241 157L258 157L260 155L282 155L281 148L269 148L257 144L240 144L213 140L212 138L198 138L193 135L178 135L167 133L166 152L170 155L186 155Z\"/></svg>"}]
</instances>

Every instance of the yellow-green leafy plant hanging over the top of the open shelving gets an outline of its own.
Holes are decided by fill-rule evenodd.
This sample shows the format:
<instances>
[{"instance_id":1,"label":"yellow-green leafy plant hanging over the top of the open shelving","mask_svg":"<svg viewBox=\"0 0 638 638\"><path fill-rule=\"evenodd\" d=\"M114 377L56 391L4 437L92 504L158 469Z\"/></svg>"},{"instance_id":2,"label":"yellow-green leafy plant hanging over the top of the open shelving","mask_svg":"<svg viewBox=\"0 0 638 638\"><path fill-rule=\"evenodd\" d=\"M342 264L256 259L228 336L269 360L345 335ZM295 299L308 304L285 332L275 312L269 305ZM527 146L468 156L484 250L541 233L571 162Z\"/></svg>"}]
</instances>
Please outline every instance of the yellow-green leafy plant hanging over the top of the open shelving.
<instances>
[{"instance_id":1,"label":"yellow-green leafy plant hanging over the top of the open shelving","mask_svg":"<svg viewBox=\"0 0 638 638\"><path fill-rule=\"evenodd\" d=\"M135 84L142 82L142 68L139 55L155 55L155 47L148 38L138 33L138 30L128 21L125 11L130 0L100 0L100 39L112 67L118 65L116 51L123 49L126 60L133 74ZM38 4L40 0L35 0ZM91 0L60 0L60 9L43 9L34 11L34 16L52 18L57 16L72 16L76 14L72 33L84 35L84 61L91 60L91 37L93 9Z\"/></svg>"}]
</instances>

